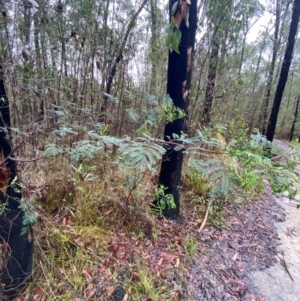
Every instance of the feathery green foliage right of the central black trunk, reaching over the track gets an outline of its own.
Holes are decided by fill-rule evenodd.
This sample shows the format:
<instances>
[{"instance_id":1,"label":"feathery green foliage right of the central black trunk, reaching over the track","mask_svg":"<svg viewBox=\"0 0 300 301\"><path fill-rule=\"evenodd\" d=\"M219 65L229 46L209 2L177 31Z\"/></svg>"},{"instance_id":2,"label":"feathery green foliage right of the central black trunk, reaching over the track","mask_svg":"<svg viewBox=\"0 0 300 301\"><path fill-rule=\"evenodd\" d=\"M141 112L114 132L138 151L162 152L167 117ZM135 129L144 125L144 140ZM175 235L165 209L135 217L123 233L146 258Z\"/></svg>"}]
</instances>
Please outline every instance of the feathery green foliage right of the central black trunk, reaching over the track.
<instances>
[{"instance_id":1,"label":"feathery green foliage right of the central black trunk, reaching over the track","mask_svg":"<svg viewBox=\"0 0 300 301\"><path fill-rule=\"evenodd\" d=\"M194 154L189 157L187 166L193 170L192 175L195 172L205 177L210 187L202 184L203 188L208 190L208 198L214 203L239 200L248 193L255 196L262 192L264 180L269 181L273 193L288 191L290 197L295 196L299 177L293 170L293 162L286 159L286 164L282 164L265 157L264 148L270 146L265 137L259 134L251 135L250 140L234 137L227 144L223 138L219 143L215 139L202 139L202 145L207 150L216 149L218 145L219 155L199 157L195 156L195 148L187 147L186 153L190 154L192 150L191 154ZM199 190L198 183L203 182L201 178L197 182L191 175L189 181L195 190Z\"/></svg>"}]
</instances>

